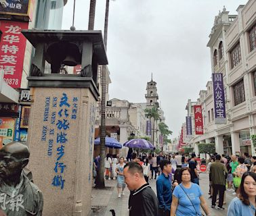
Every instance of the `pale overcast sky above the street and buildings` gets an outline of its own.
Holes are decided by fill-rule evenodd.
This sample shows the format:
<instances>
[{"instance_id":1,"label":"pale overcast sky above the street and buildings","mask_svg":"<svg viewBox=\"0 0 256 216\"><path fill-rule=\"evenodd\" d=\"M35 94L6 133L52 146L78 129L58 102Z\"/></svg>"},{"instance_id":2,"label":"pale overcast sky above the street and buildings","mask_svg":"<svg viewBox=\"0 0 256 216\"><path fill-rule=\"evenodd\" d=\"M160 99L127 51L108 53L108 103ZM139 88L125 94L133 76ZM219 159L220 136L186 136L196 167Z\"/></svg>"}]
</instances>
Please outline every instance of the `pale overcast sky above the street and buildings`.
<instances>
[{"instance_id":1,"label":"pale overcast sky above the street and buildings","mask_svg":"<svg viewBox=\"0 0 256 216\"><path fill-rule=\"evenodd\" d=\"M146 84L157 83L166 124L179 135L188 99L196 101L211 79L207 47L215 16L226 6L237 14L247 0L110 0L108 68L110 99L146 102ZM97 0L94 30L104 30L106 0ZM63 29L72 25L73 0L64 7ZM89 0L76 1L74 26L87 30Z\"/></svg>"}]
</instances>

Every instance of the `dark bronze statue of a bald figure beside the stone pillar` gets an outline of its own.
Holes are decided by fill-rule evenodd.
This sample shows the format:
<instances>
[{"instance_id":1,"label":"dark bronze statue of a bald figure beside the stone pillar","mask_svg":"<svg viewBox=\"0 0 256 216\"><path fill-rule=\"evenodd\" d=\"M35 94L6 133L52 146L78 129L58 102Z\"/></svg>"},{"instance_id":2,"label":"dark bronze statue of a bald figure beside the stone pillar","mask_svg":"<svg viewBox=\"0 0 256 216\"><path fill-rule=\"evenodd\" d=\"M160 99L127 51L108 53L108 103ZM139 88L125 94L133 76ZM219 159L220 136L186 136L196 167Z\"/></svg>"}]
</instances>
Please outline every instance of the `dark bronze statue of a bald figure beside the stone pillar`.
<instances>
[{"instance_id":1,"label":"dark bronze statue of a bald figure beside the stone pillar","mask_svg":"<svg viewBox=\"0 0 256 216\"><path fill-rule=\"evenodd\" d=\"M43 194L27 178L28 146L10 142L0 149L0 209L8 216L41 216Z\"/></svg>"}]
</instances>

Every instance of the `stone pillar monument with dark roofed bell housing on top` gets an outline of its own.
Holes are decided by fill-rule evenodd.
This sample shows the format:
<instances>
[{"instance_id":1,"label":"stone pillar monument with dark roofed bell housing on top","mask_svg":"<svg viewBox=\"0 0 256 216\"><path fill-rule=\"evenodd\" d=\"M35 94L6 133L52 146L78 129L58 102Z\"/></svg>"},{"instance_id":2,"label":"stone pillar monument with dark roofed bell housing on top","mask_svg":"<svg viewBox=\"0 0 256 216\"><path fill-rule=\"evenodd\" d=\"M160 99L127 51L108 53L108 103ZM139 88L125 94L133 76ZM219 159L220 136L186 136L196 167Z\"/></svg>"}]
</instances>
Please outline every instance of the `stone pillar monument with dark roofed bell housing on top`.
<instances>
[{"instance_id":1,"label":"stone pillar monument with dark roofed bell housing on top","mask_svg":"<svg viewBox=\"0 0 256 216\"><path fill-rule=\"evenodd\" d=\"M100 31L26 30L35 47L28 76L32 95L29 169L43 192L43 215L85 216L91 210L98 64L106 65ZM44 74L45 60L51 74ZM80 74L60 74L79 65Z\"/></svg>"}]
</instances>

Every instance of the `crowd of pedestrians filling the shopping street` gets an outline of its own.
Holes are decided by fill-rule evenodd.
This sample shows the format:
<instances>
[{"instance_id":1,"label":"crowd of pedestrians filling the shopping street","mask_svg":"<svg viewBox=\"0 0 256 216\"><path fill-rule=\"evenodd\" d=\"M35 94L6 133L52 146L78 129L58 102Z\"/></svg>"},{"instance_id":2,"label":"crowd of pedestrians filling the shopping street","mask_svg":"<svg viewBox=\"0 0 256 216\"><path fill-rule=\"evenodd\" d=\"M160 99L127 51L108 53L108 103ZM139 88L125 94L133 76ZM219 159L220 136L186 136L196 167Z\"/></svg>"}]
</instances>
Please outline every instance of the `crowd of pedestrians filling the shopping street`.
<instances>
[{"instance_id":1,"label":"crowd of pedestrians filling the shopping street","mask_svg":"<svg viewBox=\"0 0 256 216\"><path fill-rule=\"evenodd\" d=\"M130 190L130 216L211 215L199 183L201 164L207 164L211 208L224 209L228 190L236 195L228 206L228 216L256 215L256 157L249 157L248 153L242 157L215 153L208 160L201 160L194 153L163 155L161 152L139 157L131 153L126 159L108 154L104 161L105 178L117 180L118 197L124 195L125 185ZM98 163L96 157L95 169ZM156 179L156 194L149 184L152 179Z\"/></svg>"}]
</instances>

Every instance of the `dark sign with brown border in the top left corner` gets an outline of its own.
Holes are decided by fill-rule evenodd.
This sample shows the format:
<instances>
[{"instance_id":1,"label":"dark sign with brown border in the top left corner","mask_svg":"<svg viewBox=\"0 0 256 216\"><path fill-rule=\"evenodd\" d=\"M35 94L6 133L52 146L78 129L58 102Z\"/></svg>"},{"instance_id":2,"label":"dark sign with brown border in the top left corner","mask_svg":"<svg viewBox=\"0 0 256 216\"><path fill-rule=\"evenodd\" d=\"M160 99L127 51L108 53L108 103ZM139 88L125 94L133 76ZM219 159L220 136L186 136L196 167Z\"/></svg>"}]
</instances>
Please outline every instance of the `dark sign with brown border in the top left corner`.
<instances>
[{"instance_id":1,"label":"dark sign with brown border in the top left corner","mask_svg":"<svg viewBox=\"0 0 256 216\"><path fill-rule=\"evenodd\" d=\"M1 0L0 14L29 16L30 0Z\"/></svg>"}]
</instances>

